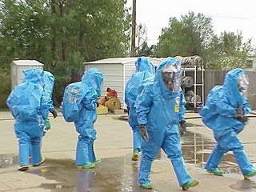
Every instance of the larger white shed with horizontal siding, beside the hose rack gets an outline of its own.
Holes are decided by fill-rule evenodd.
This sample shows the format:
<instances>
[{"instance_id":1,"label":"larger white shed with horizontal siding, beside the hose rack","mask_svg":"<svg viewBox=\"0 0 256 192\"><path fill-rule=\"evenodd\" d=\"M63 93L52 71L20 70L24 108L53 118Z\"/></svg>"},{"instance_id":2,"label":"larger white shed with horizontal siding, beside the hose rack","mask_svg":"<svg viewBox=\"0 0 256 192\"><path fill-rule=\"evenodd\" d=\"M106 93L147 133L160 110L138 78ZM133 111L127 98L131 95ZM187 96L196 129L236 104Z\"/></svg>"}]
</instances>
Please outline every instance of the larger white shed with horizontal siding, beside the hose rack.
<instances>
[{"instance_id":1,"label":"larger white shed with horizontal siding, beside the hose rack","mask_svg":"<svg viewBox=\"0 0 256 192\"><path fill-rule=\"evenodd\" d=\"M103 74L102 96L106 95L106 88L110 87L118 92L121 107L125 108L126 83L136 71L134 63L137 58L106 58L94 62L85 62L85 70L97 67ZM150 62L157 67L162 59L150 58Z\"/></svg>"}]
</instances>

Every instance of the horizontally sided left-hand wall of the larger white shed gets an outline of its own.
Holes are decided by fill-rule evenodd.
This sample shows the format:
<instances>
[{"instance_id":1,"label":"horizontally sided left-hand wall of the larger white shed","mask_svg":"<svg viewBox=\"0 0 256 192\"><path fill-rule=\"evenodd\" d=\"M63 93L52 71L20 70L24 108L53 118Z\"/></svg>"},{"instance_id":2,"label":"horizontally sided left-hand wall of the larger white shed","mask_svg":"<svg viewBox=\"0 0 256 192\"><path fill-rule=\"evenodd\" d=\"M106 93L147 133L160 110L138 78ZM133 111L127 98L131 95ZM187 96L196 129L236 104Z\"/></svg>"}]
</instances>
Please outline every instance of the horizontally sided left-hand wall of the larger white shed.
<instances>
[{"instance_id":1,"label":"horizontally sided left-hand wall of the larger white shed","mask_svg":"<svg viewBox=\"0 0 256 192\"><path fill-rule=\"evenodd\" d=\"M102 97L106 96L106 88L110 87L113 90L118 92L118 99L123 106L124 101L124 87L123 87L123 65L120 64L89 64L86 63L85 70L88 70L91 67L97 67L103 74L103 83L102 83Z\"/></svg>"}]
</instances>

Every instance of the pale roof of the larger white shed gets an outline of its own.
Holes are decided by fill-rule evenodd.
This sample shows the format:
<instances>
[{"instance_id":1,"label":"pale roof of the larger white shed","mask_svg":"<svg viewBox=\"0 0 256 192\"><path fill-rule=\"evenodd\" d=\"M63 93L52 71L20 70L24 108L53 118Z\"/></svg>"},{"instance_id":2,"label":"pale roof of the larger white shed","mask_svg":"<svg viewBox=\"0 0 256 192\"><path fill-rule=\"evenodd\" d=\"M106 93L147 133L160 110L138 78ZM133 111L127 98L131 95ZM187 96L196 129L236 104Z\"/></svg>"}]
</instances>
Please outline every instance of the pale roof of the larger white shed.
<instances>
[{"instance_id":1,"label":"pale roof of the larger white shed","mask_svg":"<svg viewBox=\"0 0 256 192\"><path fill-rule=\"evenodd\" d=\"M94 62L84 62L84 64L126 64L136 62L137 58L105 58ZM159 58L150 58L151 62L162 62Z\"/></svg>"}]
</instances>

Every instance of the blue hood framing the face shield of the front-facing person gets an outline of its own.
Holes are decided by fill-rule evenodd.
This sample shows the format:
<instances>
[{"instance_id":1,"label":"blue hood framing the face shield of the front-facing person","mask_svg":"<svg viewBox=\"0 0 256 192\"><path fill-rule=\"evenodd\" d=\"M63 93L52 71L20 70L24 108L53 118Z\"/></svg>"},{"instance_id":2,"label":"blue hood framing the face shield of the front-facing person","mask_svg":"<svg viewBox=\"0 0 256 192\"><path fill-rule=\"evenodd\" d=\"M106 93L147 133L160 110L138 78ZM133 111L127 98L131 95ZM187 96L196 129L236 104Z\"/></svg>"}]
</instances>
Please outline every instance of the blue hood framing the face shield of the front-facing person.
<instances>
[{"instance_id":1,"label":"blue hood framing the face shield of the front-facing person","mask_svg":"<svg viewBox=\"0 0 256 192\"><path fill-rule=\"evenodd\" d=\"M178 75L181 77L182 75L182 67L178 60L176 58L166 58L164 62L162 62L156 71L155 77L154 77L154 84L156 87L162 92L162 96L164 98L175 98L178 96L179 91L177 92L171 92L170 90L167 90L165 83L162 80L162 70L166 68L167 65L178 65L180 70L178 71ZM179 79L180 81L180 79Z\"/></svg>"}]
</instances>

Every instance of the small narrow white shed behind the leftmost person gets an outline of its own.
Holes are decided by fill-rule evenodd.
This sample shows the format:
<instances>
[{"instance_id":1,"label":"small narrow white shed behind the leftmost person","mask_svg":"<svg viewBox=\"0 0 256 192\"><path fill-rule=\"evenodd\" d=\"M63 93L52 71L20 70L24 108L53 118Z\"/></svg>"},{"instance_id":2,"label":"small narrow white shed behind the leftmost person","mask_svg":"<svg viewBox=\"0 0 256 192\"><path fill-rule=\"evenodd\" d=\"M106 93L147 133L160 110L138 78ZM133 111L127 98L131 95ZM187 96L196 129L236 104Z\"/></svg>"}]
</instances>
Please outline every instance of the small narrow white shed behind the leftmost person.
<instances>
[{"instance_id":1,"label":"small narrow white shed behind the leftmost person","mask_svg":"<svg viewBox=\"0 0 256 192\"><path fill-rule=\"evenodd\" d=\"M30 68L43 70L43 64L36 60L15 60L10 63L11 68L11 87L18 86L22 83L24 74L22 70L27 70Z\"/></svg>"}]
</instances>

